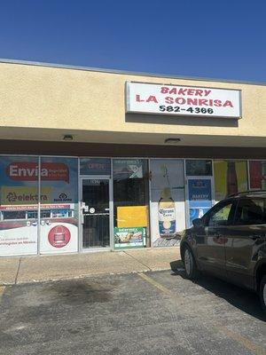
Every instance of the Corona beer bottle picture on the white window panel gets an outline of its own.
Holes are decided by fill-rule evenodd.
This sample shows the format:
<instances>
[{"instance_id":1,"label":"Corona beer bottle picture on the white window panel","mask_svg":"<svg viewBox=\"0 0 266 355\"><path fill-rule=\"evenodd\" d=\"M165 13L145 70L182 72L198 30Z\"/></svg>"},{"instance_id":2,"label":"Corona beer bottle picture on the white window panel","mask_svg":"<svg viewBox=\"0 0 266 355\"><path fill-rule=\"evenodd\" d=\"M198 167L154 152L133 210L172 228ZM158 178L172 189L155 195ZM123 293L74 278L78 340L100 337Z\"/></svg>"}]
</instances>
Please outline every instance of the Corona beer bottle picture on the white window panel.
<instances>
[{"instance_id":1,"label":"Corona beer bottle picture on the white window panel","mask_svg":"<svg viewBox=\"0 0 266 355\"><path fill-rule=\"evenodd\" d=\"M161 190L158 202L158 220L160 237L167 237L176 233L175 201L171 197L169 187Z\"/></svg>"}]
</instances>

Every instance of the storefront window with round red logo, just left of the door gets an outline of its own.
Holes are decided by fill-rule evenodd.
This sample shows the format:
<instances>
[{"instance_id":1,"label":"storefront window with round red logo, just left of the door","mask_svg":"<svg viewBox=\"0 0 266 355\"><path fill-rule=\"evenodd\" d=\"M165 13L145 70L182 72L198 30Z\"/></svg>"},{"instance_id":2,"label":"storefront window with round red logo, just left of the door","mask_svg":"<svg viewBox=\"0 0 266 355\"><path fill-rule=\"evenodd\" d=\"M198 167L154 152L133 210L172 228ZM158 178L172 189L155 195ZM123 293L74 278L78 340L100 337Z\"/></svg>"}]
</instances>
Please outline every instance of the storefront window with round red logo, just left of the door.
<instances>
[{"instance_id":1,"label":"storefront window with round red logo, just left of the door","mask_svg":"<svg viewBox=\"0 0 266 355\"><path fill-rule=\"evenodd\" d=\"M41 158L40 252L78 249L78 160Z\"/></svg>"}]
</instances>

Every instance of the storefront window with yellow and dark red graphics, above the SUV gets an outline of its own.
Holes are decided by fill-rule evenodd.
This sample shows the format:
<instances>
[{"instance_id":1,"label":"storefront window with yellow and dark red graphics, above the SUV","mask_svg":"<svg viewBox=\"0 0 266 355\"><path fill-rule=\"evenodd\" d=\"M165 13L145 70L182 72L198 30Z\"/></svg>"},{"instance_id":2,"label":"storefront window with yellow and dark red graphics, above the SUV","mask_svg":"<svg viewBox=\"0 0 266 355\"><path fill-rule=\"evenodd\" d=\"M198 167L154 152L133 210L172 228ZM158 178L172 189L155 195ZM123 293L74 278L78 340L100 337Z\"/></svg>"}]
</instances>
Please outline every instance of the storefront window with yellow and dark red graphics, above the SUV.
<instances>
[{"instance_id":1,"label":"storefront window with yellow and dark red graphics, above the SUV","mask_svg":"<svg viewBox=\"0 0 266 355\"><path fill-rule=\"evenodd\" d=\"M214 161L215 201L247 190L246 161Z\"/></svg>"}]
</instances>

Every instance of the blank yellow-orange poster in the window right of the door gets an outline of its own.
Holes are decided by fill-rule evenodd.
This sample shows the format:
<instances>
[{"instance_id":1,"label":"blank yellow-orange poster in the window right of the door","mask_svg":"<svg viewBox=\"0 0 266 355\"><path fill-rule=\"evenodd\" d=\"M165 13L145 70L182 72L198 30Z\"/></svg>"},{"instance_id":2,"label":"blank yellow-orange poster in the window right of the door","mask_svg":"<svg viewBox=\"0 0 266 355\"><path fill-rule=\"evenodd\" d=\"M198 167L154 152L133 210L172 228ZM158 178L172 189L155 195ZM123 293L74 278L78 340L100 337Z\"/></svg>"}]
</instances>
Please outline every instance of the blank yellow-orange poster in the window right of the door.
<instances>
[{"instance_id":1,"label":"blank yellow-orange poster in the window right of the door","mask_svg":"<svg viewBox=\"0 0 266 355\"><path fill-rule=\"evenodd\" d=\"M146 206L122 206L117 208L117 227L146 227L147 226Z\"/></svg>"}]
</instances>

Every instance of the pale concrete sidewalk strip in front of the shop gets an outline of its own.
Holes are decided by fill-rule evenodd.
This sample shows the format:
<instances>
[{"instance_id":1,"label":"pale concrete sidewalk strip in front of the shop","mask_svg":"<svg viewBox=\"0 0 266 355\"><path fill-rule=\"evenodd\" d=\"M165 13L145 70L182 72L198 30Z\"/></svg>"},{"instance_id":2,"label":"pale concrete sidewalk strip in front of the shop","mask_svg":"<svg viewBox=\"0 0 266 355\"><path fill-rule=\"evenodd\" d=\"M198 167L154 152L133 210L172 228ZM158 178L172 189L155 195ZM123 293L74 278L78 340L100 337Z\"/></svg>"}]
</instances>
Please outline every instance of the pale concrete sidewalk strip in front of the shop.
<instances>
[{"instance_id":1,"label":"pale concrete sidewalk strip in front of the shop","mask_svg":"<svg viewBox=\"0 0 266 355\"><path fill-rule=\"evenodd\" d=\"M97 274L170 270L179 248L144 248L59 256L0 257L0 285Z\"/></svg>"}]
</instances>

